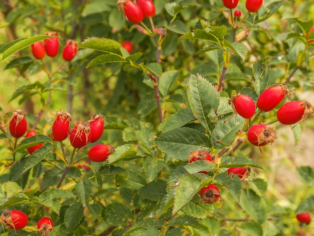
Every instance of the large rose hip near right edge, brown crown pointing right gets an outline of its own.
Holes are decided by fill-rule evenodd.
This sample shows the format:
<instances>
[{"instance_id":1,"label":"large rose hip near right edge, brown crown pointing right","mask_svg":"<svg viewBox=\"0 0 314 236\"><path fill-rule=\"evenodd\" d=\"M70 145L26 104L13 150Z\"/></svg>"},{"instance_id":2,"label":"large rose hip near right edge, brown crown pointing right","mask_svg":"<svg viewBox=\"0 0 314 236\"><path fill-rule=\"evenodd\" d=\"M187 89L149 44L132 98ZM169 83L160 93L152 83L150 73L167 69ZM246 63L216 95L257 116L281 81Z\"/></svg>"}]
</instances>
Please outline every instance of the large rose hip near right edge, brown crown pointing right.
<instances>
[{"instance_id":1,"label":"large rose hip near right edge, brown crown pointing right","mask_svg":"<svg viewBox=\"0 0 314 236\"><path fill-rule=\"evenodd\" d=\"M289 101L277 111L277 119L283 125L292 125L303 121L313 112L308 101Z\"/></svg>"}]
</instances>

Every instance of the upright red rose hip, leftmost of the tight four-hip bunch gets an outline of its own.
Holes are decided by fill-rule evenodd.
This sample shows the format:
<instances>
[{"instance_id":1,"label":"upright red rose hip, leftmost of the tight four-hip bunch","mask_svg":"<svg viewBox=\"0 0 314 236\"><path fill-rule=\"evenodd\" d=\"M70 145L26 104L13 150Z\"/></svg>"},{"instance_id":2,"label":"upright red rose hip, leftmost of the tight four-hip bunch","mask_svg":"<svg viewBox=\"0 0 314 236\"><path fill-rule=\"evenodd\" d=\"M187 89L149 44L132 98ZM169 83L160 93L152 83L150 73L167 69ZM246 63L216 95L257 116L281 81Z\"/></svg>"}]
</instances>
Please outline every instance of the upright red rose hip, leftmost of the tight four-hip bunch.
<instances>
[{"instance_id":1,"label":"upright red rose hip, leftmost of the tight four-hip bunch","mask_svg":"<svg viewBox=\"0 0 314 236\"><path fill-rule=\"evenodd\" d=\"M55 141L63 141L68 137L71 120L70 113L64 110L57 111L52 125L52 134Z\"/></svg>"}]
</instances>

